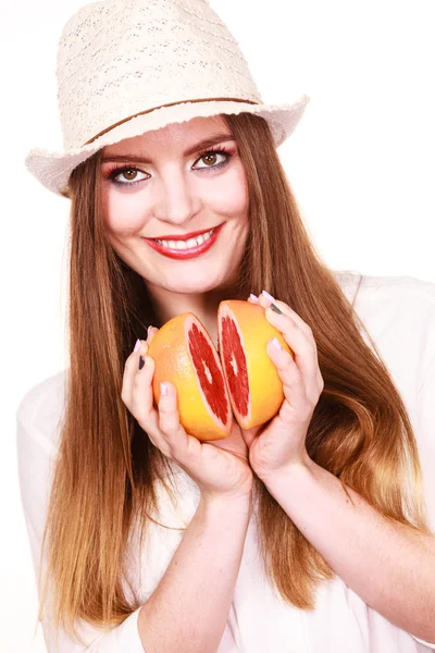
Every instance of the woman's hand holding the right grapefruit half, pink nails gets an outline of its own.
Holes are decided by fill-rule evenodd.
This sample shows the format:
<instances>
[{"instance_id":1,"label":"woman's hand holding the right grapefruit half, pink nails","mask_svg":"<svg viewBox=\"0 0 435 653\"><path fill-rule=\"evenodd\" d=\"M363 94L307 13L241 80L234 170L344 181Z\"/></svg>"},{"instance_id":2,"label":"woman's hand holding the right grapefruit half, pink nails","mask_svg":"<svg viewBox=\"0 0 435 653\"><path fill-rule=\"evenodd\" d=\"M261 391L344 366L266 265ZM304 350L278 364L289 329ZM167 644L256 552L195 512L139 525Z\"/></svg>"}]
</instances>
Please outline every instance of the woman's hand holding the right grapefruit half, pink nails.
<instances>
[{"instance_id":1,"label":"woman's hand holding the right grapefruit half, pink nails","mask_svg":"<svg viewBox=\"0 0 435 653\"><path fill-rule=\"evenodd\" d=\"M249 301L251 301L249 299ZM243 430L249 447L249 463L265 483L294 464L309 464L306 436L314 408L324 387L318 348L311 328L284 301L273 300L283 312L274 312L271 299L259 297L265 316L282 334L295 358L270 341L266 350L283 382L284 401L278 414L265 427Z\"/></svg>"}]
</instances>

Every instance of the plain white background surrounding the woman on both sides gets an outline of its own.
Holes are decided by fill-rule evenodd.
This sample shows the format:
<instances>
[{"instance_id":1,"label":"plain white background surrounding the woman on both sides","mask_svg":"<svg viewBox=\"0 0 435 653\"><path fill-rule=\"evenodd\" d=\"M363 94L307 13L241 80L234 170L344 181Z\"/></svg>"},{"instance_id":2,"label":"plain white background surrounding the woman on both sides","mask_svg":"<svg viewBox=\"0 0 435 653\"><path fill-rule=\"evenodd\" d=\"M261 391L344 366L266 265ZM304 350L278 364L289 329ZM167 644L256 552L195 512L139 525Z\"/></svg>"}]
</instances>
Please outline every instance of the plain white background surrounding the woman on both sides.
<instances>
[{"instance_id":1,"label":"plain white background surrounding the woman on both sides","mask_svg":"<svg viewBox=\"0 0 435 653\"><path fill-rule=\"evenodd\" d=\"M240 42L265 102L311 97L278 151L327 264L435 282L433 2L210 3ZM23 161L33 147L62 149L57 41L82 4L11 2L0 27L0 650L7 653L46 651L40 630L33 639L37 603L17 485L15 410L32 385L65 366L70 205Z\"/></svg>"}]
</instances>

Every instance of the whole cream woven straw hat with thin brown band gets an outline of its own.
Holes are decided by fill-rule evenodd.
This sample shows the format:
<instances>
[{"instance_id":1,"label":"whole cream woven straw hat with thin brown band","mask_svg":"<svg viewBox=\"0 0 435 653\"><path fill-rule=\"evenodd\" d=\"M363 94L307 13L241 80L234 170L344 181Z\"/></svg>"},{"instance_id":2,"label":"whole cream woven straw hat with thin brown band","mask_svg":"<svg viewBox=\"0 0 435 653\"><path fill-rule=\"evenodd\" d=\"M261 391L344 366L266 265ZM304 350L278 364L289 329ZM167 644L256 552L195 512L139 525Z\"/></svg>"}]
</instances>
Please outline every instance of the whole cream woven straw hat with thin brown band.
<instances>
[{"instance_id":1,"label":"whole cream woven straw hat with thin brown band","mask_svg":"<svg viewBox=\"0 0 435 653\"><path fill-rule=\"evenodd\" d=\"M261 115L277 147L309 101L264 104L238 42L207 0L87 4L65 24L57 63L64 151L32 149L25 163L59 195L74 168L103 146L197 116Z\"/></svg>"}]
</instances>

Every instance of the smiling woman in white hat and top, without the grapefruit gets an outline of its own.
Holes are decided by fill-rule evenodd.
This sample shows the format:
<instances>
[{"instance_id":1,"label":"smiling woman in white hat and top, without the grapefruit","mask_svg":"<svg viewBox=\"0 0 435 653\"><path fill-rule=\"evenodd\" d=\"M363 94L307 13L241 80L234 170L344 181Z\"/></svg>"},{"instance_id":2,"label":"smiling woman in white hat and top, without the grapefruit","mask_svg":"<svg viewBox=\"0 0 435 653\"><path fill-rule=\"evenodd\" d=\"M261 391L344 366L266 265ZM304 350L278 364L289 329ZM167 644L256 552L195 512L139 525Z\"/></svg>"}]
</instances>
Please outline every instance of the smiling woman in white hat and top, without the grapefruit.
<instances>
[{"instance_id":1,"label":"smiling woman in white hat and top, without the grapefruit","mask_svg":"<svg viewBox=\"0 0 435 653\"><path fill-rule=\"evenodd\" d=\"M58 82L70 367L17 414L49 653L435 649L434 285L320 260L276 153L308 98L262 104L203 0L86 5ZM200 442L148 345L248 297L285 399Z\"/></svg>"}]
</instances>

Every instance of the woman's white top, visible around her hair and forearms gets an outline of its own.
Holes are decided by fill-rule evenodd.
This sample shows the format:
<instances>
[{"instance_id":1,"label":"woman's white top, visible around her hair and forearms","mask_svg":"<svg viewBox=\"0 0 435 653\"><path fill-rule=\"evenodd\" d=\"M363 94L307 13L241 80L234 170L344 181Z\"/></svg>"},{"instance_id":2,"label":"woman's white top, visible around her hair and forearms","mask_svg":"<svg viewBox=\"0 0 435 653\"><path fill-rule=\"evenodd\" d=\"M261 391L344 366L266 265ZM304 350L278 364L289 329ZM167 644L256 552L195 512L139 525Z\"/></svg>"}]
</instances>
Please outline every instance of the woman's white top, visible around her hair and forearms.
<instances>
[{"instance_id":1,"label":"woman's white top, visible around her hair and forearms","mask_svg":"<svg viewBox=\"0 0 435 653\"><path fill-rule=\"evenodd\" d=\"M353 271L336 272L352 299L360 281ZM426 504L435 531L435 283L410 276L363 276L355 303L357 313L380 348L414 428L423 468ZM64 372L33 387L17 410L17 455L25 519L35 574L45 525L52 461L63 409ZM179 469L179 468L178 468ZM199 490L179 469L179 502L174 508L164 492L160 519L187 526ZM129 581L145 603L159 584L183 533L151 523L140 553L132 549ZM87 652L144 653L137 629L139 609L109 633L79 621ZM85 651L63 632L55 648L53 629L44 624L48 653ZM312 613L291 608L274 595L263 576L252 515L219 653L415 653L434 644L421 642L369 607L338 577L318 592Z\"/></svg>"}]
</instances>

